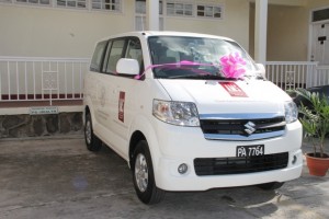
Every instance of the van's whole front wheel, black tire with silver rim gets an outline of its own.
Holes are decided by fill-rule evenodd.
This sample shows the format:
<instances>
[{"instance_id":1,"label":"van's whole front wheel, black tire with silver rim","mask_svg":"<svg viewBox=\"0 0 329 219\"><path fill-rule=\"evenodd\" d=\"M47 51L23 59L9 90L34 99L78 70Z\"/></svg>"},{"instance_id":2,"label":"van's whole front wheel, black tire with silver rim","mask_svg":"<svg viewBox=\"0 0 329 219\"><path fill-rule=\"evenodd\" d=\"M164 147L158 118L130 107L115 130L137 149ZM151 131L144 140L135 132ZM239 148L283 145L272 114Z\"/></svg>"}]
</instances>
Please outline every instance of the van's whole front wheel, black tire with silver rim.
<instances>
[{"instance_id":1,"label":"van's whole front wheel, black tire with silver rim","mask_svg":"<svg viewBox=\"0 0 329 219\"><path fill-rule=\"evenodd\" d=\"M134 187L139 200L147 205L160 203L166 192L156 185L151 157L145 140L137 143L132 164Z\"/></svg>"}]
</instances>

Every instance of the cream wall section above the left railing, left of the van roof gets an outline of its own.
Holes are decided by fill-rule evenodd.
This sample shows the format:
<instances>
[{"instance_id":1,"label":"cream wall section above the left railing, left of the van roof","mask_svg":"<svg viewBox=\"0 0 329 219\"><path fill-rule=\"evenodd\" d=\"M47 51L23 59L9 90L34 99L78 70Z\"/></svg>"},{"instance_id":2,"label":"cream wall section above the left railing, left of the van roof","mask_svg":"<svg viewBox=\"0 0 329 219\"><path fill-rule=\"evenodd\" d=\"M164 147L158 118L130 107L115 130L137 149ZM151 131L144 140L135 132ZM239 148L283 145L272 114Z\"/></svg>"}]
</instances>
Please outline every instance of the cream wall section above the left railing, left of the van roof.
<instances>
[{"instance_id":1,"label":"cream wall section above the left railing, left of the van roof","mask_svg":"<svg viewBox=\"0 0 329 219\"><path fill-rule=\"evenodd\" d=\"M102 37L134 30L134 4L124 12L0 4L0 56L90 57Z\"/></svg>"}]
</instances>

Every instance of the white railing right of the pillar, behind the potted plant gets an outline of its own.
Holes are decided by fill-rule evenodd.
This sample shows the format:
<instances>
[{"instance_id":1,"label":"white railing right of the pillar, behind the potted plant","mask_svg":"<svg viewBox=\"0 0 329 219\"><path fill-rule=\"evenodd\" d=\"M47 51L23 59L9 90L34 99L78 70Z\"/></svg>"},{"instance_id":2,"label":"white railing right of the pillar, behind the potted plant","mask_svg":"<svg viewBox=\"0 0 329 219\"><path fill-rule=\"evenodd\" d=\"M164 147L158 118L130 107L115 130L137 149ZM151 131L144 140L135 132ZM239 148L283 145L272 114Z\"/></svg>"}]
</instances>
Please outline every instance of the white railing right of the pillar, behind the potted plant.
<instances>
[{"instance_id":1,"label":"white railing right of the pillar, behind the potted plant","mask_svg":"<svg viewBox=\"0 0 329 219\"><path fill-rule=\"evenodd\" d=\"M329 66L314 61L268 61L266 78L283 90L329 84Z\"/></svg>"}]
</instances>

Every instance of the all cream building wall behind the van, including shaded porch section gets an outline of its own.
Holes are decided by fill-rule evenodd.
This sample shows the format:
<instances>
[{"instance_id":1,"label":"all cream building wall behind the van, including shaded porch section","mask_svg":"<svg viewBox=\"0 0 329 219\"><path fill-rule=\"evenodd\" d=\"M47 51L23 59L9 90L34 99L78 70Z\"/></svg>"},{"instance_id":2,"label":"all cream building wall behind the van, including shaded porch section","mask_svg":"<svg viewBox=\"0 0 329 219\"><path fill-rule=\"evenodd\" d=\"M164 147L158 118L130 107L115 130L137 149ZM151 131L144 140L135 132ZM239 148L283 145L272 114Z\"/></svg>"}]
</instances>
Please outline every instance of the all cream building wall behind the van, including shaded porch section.
<instances>
[{"instance_id":1,"label":"all cream building wall behind the van, including shaded porch section","mask_svg":"<svg viewBox=\"0 0 329 219\"><path fill-rule=\"evenodd\" d=\"M253 47L249 44L249 33L253 39L249 0L181 1L222 4L224 19L164 15L166 31L224 35L247 50ZM328 5L329 0L283 2L294 7L269 8L268 60L307 60L309 11ZM134 0L123 0L122 13L0 3L0 56L90 57L100 38L134 30Z\"/></svg>"}]
</instances>

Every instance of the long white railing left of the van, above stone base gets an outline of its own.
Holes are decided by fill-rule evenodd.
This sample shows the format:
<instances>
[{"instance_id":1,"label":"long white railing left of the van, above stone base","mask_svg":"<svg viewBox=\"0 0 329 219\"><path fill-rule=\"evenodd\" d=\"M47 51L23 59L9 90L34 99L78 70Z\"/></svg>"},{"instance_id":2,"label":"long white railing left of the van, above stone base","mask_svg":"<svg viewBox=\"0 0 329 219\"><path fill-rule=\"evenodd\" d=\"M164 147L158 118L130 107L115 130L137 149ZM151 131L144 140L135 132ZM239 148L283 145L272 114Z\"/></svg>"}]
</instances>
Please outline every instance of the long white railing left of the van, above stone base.
<instances>
[{"instance_id":1,"label":"long white railing left of the van, above stone base","mask_svg":"<svg viewBox=\"0 0 329 219\"><path fill-rule=\"evenodd\" d=\"M81 100L89 61L0 57L0 102Z\"/></svg>"}]
</instances>

